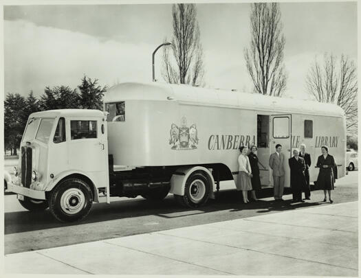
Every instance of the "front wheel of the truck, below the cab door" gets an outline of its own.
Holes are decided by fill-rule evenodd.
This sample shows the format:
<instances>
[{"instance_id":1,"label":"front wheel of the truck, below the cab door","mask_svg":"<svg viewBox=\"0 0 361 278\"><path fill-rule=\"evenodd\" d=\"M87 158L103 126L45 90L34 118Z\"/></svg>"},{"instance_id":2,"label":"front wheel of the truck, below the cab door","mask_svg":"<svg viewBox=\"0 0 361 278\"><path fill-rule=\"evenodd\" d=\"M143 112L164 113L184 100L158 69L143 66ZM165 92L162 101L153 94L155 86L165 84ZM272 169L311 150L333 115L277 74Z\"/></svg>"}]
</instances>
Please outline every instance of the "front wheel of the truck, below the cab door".
<instances>
[{"instance_id":1,"label":"front wheel of the truck, below the cab door","mask_svg":"<svg viewBox=\"0 0 361 278\"><path fill-rule=\"evenodd\" d=\"M49 208L57 220L74 222L88 215L92 203L89 185L79 178L67 178L53 189Z\"/></svg>"}]
</instances>

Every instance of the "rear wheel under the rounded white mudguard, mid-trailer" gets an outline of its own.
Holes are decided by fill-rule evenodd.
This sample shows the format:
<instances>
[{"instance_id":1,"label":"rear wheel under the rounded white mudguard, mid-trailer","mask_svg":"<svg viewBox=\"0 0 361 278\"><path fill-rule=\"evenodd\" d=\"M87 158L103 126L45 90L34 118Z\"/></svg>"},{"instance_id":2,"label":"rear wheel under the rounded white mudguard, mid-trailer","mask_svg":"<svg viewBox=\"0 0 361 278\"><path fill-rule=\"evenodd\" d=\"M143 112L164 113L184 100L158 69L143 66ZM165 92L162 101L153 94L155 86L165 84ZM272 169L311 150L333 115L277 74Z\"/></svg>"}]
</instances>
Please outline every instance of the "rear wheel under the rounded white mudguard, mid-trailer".
<instances>
[{"instance_id":1,"label":"rear wheel under the rounded white mudguard, mid-trailer","mask_svg":"<svg viewBox=\"0 0 361 278\"><path fill-rule=\"evenodd\" d=\"M184 187L184 196L175 195L175 200L185 207L204 205L209 197L210 182L203 172L190 174Z\"/></svg>"}]
</instances>

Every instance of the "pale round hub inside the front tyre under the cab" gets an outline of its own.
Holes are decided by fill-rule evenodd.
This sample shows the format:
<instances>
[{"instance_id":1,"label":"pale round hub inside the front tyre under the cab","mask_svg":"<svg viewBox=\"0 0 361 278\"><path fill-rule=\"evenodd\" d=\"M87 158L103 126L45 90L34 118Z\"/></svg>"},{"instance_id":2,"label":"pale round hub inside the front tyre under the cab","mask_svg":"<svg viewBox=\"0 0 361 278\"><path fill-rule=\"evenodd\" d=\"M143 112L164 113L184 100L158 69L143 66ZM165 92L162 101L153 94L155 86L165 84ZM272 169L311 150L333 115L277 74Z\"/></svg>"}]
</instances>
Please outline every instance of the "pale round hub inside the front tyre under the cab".
<instances>
[{"instance_id":1,"label":"pale round hub inside the front tyre under the cab","mask_svg":"<svg viewBox=\"0 0 361 278\"><path fill-rule=\"evenodd\" d=\"M61 209L67 214L75 214L85 206L84 193L78 188L67 189L61 196Z\"/></svg>"}]
</instances>

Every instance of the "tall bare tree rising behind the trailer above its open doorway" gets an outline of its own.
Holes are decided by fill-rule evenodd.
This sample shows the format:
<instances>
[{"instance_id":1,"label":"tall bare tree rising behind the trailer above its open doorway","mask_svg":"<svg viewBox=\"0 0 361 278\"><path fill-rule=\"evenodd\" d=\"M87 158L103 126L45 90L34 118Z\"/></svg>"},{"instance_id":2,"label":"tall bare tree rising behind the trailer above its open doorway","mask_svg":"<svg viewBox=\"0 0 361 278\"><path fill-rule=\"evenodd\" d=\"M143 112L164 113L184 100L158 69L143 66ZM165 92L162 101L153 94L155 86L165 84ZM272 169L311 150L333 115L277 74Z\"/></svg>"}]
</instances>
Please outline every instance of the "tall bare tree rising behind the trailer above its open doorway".
<instances>
[{"instance_id":1,"label":"tall bare tree rising behind the trailer above its open doorway","mask_svg":"<svg viewBox=\"0 0 361 278\"><path fill-rule=\"evenodd\" d=\"M250 23L251 43L249 49L244 49L244 57L254 91L281 96L286 89L287 74L283 64L285 37L278 3L252 3Z\"/></svg>"}]
</instances>

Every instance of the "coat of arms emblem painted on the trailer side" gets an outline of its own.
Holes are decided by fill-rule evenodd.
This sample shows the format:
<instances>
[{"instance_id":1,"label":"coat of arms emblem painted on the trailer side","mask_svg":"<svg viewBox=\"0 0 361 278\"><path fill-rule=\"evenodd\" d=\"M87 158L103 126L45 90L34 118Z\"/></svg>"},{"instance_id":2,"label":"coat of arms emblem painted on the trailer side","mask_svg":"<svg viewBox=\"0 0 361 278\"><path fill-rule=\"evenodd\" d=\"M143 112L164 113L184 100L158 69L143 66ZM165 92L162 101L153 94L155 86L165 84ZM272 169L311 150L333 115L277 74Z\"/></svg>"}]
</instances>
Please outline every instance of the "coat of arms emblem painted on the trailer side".
<instances>
[{"instance_id":1,"label":"coat of arms emblem painted on the trailer side","mask_svg":"<svg viewBox=\"0 0 361 278\"><path fill-rule=\"evenodd\" d=\"M197 126L192 124L188 128L186 117L182 117L179 127L176 124L172 124L170 133L169 145L173 145L172 150L194 150L197 148L199 141Z\"/></svg>"}]
</instances>

